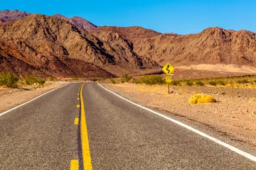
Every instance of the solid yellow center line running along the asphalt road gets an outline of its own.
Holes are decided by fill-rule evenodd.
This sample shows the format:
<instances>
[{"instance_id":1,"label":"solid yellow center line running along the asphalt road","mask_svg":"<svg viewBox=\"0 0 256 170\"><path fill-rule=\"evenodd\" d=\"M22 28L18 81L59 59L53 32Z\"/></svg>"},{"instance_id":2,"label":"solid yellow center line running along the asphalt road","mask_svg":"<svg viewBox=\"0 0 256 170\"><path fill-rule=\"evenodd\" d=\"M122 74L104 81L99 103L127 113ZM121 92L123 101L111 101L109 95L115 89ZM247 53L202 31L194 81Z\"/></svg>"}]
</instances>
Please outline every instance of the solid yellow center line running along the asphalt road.
<instances>
[{"instance_id":1,"label":"solid yellow center line running along the asphalt road","mask_svg":"<svg viewBox=\"0 0 256 170\"><path fill-rule=\"evenodd\" d=\"M90 157L90 147L89 147L89 139L87 134L87 126L85 120L85 107L82 99L82 88L85 84L82 84L80 91L80 101L81 101L81 118L80 118L80 131L81 131L81 145L82 145L82 163L84 169L90 170L92 169L92 162Z\"/></svg>"}]
</instances>

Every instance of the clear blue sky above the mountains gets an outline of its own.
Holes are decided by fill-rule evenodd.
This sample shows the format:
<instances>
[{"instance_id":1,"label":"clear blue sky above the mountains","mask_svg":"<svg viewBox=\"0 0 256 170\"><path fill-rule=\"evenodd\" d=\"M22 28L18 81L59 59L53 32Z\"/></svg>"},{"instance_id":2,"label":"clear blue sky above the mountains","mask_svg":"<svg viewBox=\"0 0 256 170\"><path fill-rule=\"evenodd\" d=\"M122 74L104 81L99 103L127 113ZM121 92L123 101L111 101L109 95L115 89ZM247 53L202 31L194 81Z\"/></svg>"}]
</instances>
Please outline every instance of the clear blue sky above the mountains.
<instances>
[{"instance_id":1,"label":"clear blue sky above the mountains","mask_svg":"<svg viewBox=\"0 0 256 170\"><path fill-rule=\"evenodd\" d=\"M218 26L256 32L255 0L1 1L0 11L81 16L97 26L142 26L160 33L199 33Z\"/></svg>"}]
</instances>

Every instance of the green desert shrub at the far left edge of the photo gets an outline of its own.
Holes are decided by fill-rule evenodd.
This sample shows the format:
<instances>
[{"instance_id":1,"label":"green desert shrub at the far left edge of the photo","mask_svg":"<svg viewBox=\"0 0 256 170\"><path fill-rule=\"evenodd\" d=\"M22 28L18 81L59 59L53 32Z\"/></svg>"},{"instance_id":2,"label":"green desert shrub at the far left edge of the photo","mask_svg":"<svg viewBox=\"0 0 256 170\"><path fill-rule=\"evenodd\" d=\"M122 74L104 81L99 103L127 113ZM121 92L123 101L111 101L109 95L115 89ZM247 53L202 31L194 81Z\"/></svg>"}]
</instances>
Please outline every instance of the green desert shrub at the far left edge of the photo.
<instances>
[{"instance_id":1,"label":"green desert shrub at the far left edge of the photo","mask_svg":"<svg viewBox=\"0 0 256 170\"><path fill-rule=\"evenodd\" d=\"M0 74L0 86L16 88L18 86L18 77L10 72Z\"/></svg>"}]
</instances>

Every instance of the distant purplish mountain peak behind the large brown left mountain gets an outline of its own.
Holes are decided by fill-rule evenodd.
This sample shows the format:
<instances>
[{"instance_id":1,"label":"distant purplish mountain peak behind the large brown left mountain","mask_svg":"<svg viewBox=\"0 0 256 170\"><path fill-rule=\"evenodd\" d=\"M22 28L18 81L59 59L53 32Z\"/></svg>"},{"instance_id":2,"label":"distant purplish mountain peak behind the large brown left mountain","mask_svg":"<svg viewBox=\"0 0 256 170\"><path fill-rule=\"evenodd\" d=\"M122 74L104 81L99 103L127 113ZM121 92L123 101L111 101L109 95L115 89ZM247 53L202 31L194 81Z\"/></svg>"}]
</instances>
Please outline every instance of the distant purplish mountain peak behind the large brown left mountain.
<instances>
[{"instance_id":1,"label":"distant purplish mountain peak behind the large brown left mountain","mask_svg":"<svg viewBox=\"0 0 256 170\"><path fill-rule=\"evenodd\" d=\"M78 16L74 16L72 18L67 18L60 14L55 14L55 15L53 15L53 17L68 21L68 22L72 23L73 25L75 25L76 27L82 28L82 30L92 30L92 29L98 28L98 26L96 26L95 24L90 23L89 21L85 20L84 18L81 18Z\"/></svg>"}]
</instances>

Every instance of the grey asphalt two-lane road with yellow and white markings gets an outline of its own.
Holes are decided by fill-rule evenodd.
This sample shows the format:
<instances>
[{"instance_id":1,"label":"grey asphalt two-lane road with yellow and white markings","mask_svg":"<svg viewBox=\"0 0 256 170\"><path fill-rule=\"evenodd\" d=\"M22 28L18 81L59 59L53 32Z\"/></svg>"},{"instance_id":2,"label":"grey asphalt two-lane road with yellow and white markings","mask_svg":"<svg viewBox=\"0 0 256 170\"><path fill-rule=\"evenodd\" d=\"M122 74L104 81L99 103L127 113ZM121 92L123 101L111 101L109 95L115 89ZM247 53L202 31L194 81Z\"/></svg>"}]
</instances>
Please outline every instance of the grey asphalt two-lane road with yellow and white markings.
<instances>
[{"instance_id":1,"label":"grey asphalt two-lane road with yellow and white markings","mask_svg":"<svg viewBox=\"0 0 256 170\"><path fill-rule=\"evenodd\" d=\"M256 169L234 152L96 83L0 113L0 169Z\"/></svg>"}]
</instances>

